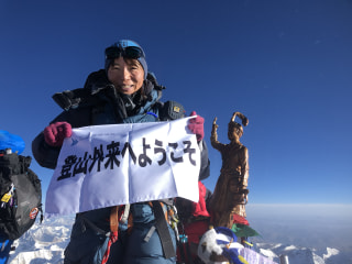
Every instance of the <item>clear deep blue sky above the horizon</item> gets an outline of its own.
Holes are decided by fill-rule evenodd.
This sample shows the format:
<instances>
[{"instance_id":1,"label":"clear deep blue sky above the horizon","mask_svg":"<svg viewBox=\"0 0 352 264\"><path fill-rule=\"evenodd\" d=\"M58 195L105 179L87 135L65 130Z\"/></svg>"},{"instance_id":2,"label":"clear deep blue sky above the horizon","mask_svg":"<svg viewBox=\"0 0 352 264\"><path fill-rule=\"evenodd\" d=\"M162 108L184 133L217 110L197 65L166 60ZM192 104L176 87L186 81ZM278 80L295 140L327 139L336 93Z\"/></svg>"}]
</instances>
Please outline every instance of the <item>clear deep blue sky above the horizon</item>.
<instances>
[{"instance_id":1,"label":"clear deep blue sky above the horizon","mask_svg":"<svg viewBox=\"0 0 352 264\"><path fill-rule=\"evenodd\" d=\"M31 142L61 112L52 95L82 87L103 50L139 42L164 100L206 119L213 190L219 140L248 116L251 204L351 204L351 0L0 2L1 130ZM52 170L32 164L46 191Z\"/></svg>"}]
</instances>

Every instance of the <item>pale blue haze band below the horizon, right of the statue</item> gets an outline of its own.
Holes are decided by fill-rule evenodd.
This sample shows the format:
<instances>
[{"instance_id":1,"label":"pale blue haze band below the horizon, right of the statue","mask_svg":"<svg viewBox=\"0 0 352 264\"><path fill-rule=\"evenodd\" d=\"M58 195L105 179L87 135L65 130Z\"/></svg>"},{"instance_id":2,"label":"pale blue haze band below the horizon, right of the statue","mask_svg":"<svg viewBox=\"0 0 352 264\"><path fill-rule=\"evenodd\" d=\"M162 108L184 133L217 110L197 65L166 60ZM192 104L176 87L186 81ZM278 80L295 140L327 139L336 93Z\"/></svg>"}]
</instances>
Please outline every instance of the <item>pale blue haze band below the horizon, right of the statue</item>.
<instances>
[{"instance_id":1,"label":"pale blue haze band below the horizon, right of the statue","mask_svg":"<svg viewBox=\"0 0 352 264\"><path fill-rule=\"evenodd\" d=\"M352 205L248 205L246 212L258 241L352 249Z\"/></svg>"}]
</instances>

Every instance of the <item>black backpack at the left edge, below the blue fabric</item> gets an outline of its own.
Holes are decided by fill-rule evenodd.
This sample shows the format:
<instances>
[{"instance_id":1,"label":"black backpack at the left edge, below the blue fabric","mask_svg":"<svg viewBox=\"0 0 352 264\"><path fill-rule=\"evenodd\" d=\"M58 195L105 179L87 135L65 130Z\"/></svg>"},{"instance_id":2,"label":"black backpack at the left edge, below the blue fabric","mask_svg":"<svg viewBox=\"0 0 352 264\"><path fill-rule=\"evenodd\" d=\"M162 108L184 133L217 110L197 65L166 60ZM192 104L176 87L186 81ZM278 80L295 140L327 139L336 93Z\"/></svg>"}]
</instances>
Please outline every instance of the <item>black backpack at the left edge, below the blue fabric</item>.
<instances>
[{"instance_id":1,"label":"black backpack at the left edge, below the blue fabric","mask_svg":"<svg viewBox=\"0 0 352 264\"><path fill-rule=\"evenodd\" d=\"M0 154L0 234L19 239L35 222L42 211L42 187L29 166L30 156L16 153Z\"/></svg>"}]
</instances>

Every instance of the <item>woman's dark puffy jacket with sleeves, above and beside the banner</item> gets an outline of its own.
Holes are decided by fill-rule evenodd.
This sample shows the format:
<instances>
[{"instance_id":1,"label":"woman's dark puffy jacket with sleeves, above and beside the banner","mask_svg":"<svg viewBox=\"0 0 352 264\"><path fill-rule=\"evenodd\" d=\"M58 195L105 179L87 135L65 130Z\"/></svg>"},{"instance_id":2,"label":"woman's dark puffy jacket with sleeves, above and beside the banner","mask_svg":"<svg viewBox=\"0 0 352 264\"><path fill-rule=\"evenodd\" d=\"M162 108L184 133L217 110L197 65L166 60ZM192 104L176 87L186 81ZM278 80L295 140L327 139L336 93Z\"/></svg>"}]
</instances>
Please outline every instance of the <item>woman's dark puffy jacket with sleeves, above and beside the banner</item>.
<instances>
[{"instance_id":1,"label":"woman's dark puffy jacket with sleeves, above and beside the banner","mask_svg":"<svg viewBox=\"0 0 352 264\"><path fill-rule=\"evenodd\" d=\"M58 92L53 99L64 109L51 123L66 121L73 128L98 124L155 122L174 120L184 117L184 108L175 101L160 101L162 90L151 74L143 87L134 97L120 95L107 79L103 69L90 74L85 87L72 91ZM174 106L180 109L174 112ZM146 113L153 114L146 114ZM209 176L208 147L205 141L199 142L201 151L201 169L199 179ZM61 147L45 143L43 132L32 142L32 152L36 162L47 168L55 168Z\"/></svg>"}]
</instances>

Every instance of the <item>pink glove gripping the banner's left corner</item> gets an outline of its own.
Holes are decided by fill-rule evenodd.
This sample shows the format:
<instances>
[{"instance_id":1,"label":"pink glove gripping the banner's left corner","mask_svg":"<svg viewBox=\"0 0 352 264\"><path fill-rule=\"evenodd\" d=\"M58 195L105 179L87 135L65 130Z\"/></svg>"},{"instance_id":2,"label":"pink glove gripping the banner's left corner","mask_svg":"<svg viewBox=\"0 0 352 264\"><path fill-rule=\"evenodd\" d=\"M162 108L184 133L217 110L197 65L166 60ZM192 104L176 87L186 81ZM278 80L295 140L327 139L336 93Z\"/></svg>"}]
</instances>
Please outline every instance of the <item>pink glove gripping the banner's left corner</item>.
<instances>
[{"instance_id":1,"label":"pink glove gripping the banner's left corner","mask_svg":"<svg viewBox=\"0 0 352 264\"><path fill-rule=\"evenodd\" d=\"M67 122L56 122L44 129L44 140L51 146L62 146L66 138L73 134L73 129Z\"/></svg>"}]
</instances>

